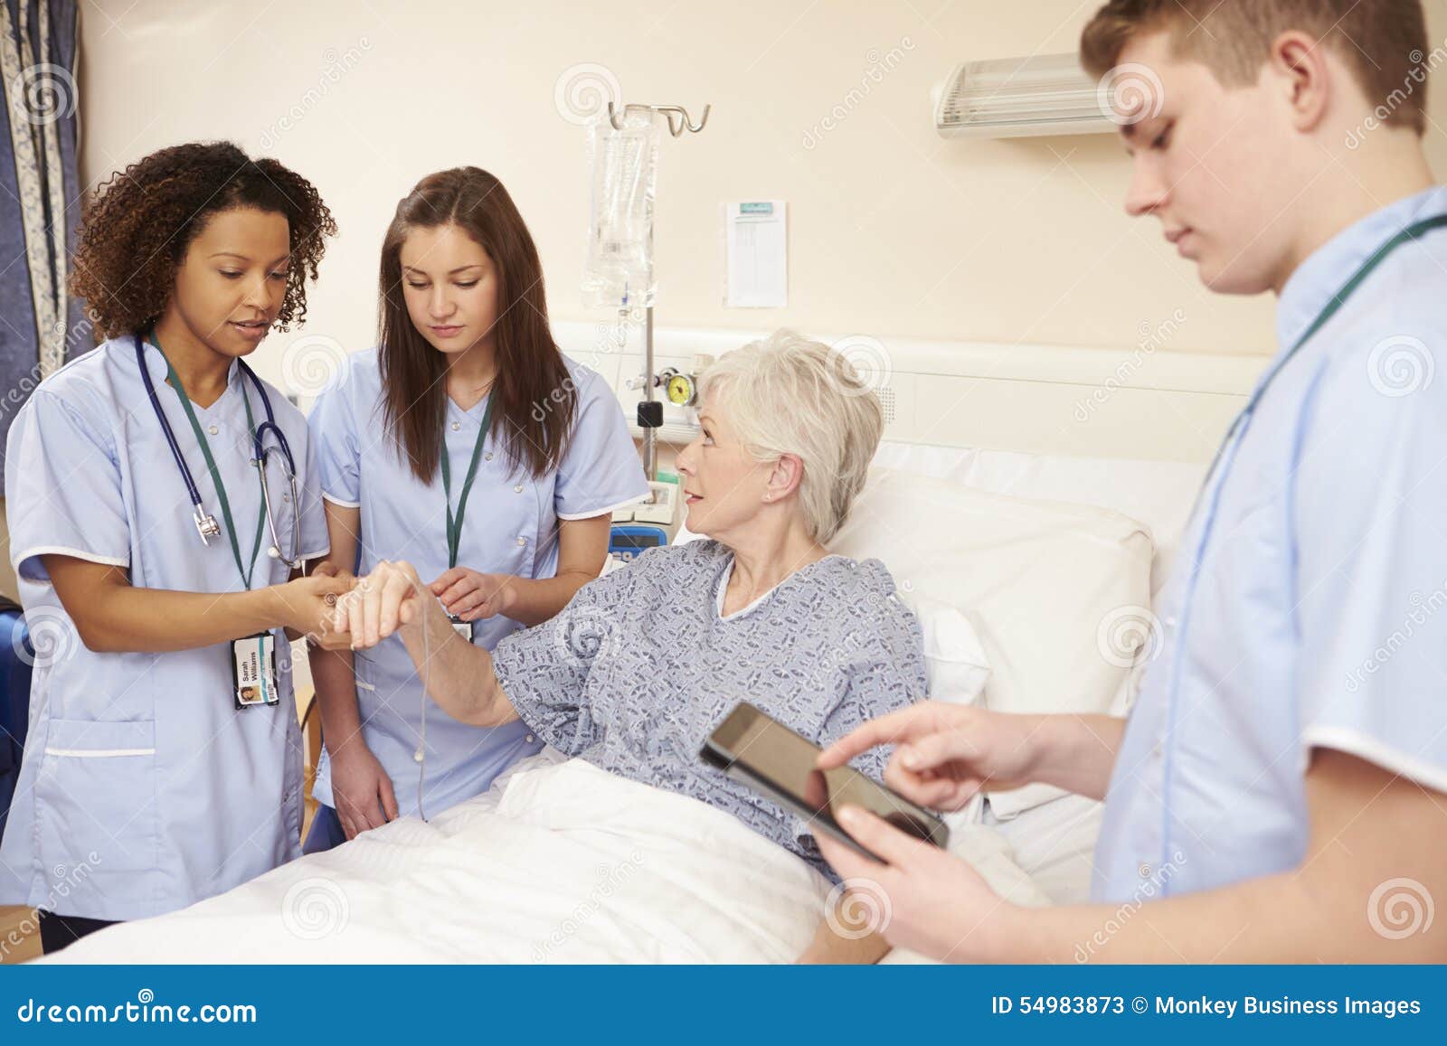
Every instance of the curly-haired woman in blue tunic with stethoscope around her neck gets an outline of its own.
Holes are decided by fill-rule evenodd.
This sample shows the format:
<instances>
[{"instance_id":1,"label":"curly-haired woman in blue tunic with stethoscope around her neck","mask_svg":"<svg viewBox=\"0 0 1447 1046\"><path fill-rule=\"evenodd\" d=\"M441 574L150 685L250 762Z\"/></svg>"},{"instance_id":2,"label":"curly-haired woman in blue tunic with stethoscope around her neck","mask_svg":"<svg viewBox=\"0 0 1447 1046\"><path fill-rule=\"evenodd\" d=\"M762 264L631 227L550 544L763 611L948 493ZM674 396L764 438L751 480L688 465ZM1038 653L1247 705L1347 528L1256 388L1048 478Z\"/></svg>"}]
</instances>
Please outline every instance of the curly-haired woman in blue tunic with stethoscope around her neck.
<instances>
[{"instance_id":1,"label":"curly-haired woman in blue tunic with stethoscope around her neck","mask_svg":"<svg viewBox=\"0 0 1447 1046\"><path fill-rule=\"evenodd\" d=\"M304 576L327 553L307 422L243 359L302 320L334 229L229 143L152 153L87 205L71 286L110 340L41 382L6 448L38 655L0 904L41 911L46 952L300 852L281 632L346 584Z\"/></svg>"}]
</instances>

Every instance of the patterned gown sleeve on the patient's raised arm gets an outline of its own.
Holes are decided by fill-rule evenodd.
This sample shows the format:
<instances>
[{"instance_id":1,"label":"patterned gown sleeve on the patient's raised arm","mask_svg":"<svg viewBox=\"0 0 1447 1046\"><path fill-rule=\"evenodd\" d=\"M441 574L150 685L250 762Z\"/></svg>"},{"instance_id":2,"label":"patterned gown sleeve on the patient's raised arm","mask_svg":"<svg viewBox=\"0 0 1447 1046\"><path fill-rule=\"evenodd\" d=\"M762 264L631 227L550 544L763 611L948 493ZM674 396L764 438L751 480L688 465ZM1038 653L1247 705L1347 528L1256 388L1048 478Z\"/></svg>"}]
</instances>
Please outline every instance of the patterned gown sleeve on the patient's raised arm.
<instances>
[{"instance_id":1,"label":"patterned gown sleeve on the patient's raised arm","mask_svg":"<svg viewBox=\"0 0 1447 1046\"><path fill-rule=\"evenodd\" d=\"M567 755L601 738L589 674L614 641L615 615L627 605L632 574L628 567L589 582L553 618L505 637L492 651L493 674L518 718Z\"/></svg>"}]
</instances>

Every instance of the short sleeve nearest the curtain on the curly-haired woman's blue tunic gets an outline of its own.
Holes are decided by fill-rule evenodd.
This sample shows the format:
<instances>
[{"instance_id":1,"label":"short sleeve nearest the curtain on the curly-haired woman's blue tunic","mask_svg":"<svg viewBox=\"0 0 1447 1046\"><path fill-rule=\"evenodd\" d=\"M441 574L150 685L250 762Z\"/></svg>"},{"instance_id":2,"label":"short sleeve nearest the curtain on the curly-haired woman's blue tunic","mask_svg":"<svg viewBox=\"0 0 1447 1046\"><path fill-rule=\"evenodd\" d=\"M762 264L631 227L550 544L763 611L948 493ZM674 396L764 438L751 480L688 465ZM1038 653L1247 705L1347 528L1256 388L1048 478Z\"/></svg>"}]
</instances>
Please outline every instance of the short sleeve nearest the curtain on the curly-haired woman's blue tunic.
<instances>
[{"instance_id":1,"label":"short sleeve nearest the curtain on the curly-haired woman's blue tunic","mask_svg":"<svg viewBox=\"0 0 1447 1046\"><path fill-rule=\"evenodd\" d=\"M45 554L130 566L130 524L109 425L36 389L6 444L6 516L10 563L27 580L48 580Z\"/></svg>"}]
</instances>

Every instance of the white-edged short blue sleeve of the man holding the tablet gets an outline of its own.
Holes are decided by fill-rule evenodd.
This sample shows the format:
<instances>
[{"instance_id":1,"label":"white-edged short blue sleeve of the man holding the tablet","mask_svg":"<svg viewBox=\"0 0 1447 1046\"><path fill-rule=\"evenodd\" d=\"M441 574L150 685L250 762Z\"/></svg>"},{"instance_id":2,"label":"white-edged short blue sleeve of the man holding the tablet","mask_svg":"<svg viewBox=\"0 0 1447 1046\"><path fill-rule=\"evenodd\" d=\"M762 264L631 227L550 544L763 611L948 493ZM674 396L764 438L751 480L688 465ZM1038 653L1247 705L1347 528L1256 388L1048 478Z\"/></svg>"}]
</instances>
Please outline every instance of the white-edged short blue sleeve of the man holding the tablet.
<instances>
[{"instance_id":1,"label":"white-edged short blue sleeve of the man holding the tablet","mask_svg":"<svg viewBox=\"0 0 1447 1046\"><path fill-rule=\"evenodd\" d=\"M1444 334L1424 341L1441 346ZM1302 748L1447 790L1447 382L1402 394L1372 382L1365 359L1318 376L1302 424L1292 501ZM1437 365L1447 370L1447 359Z\"/></svg>"}]
</instances>

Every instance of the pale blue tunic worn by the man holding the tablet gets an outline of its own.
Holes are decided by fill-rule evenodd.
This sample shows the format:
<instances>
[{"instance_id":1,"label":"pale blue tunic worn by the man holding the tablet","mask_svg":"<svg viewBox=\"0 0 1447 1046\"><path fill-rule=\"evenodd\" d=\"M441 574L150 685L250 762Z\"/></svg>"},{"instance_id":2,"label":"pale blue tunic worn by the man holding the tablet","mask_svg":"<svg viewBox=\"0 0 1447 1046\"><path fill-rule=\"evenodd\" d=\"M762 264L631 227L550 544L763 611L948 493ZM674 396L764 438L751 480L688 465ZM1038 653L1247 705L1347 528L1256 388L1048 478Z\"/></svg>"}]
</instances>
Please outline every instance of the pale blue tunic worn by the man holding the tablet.
<instances>
[{"instance_id":1,"label":"pale blue tunic worn by the man holding the tablet","mask_svg":"<svg viewBox=\"0 0 1447 1046\"><path fill-rule=\"evenodd\" d=\"M1292 273L1294 346L1447 188L1363 218ZM1163 593L1106 799L1098 900L1295 868L1315 748L1447 791L1447 230L1406 243L1289 359L1231 440Z\"/></svg>"}]
</instances>

